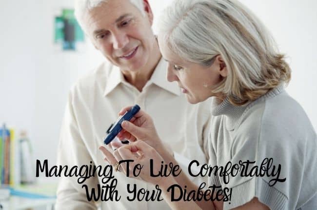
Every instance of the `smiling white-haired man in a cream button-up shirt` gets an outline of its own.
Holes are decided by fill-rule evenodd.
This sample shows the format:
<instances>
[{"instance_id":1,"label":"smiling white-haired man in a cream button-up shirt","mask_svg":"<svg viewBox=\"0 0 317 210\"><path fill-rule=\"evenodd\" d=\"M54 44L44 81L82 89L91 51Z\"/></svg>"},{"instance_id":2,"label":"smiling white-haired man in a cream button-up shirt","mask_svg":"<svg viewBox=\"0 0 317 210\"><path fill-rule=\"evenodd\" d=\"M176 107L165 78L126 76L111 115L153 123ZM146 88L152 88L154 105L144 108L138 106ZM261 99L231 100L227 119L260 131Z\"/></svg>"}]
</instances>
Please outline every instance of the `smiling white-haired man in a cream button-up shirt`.
<instances>
[{"instance_id":1,"label":"smiling white-haired man in a cream button-up shirt","mask_svg":"<svg viewBox=\"0 0 317 210\"><path fill-rule=\"evenodd\" d=\"M118 118L120 109L140 105L149 113L164 144L174 151L178 162L206 162L210 103L187 103L176 83L165 79L167 63L161 59L151 26L153 13L147 0L76 0L79 24L97 50L107 59L81 78L70 91L58 148L62 166L105 166L98 150L105 131ZM203 85L203 84L201 84ZM186 164L185 164L186 165ZM184 168L185 170L187 168ZM119 201L101 202L107 210L169 209L164 201L128 201L127 184L154 189L142 181L115 172ZM102 177L84 182L90 189L102 185ZM131 196L131 195L130 195ZM97 209L88 201L82 184L63 177L57 192L57 209Z\"/></svg>"}]
</instances>

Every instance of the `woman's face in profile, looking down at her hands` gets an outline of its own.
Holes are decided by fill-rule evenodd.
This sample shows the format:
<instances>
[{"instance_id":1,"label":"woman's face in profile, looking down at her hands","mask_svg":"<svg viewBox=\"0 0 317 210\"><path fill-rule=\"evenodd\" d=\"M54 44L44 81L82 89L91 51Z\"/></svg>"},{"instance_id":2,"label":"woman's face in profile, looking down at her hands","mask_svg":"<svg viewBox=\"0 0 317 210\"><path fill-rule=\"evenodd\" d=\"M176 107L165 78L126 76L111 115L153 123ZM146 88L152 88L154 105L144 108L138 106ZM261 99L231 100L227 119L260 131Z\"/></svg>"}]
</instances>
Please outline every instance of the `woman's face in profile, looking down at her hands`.
<instances>
[{"instance_id":1,"label":"woman's face in profile, looking down at her hands","mask_svg":"<svg viewBox=\"0 0 317 210\"><path fill-rule=\"evenodd\" d=\"M220 55L216 56L211 66L205 67L182 60L168 48L160 36L158 36L158 44L163 58L168 62L167 80L178 83L189 103L197 104L211 96L221 96L212 92L215 85L227 76L227 69Z\"/></svg>"}]
</instances>

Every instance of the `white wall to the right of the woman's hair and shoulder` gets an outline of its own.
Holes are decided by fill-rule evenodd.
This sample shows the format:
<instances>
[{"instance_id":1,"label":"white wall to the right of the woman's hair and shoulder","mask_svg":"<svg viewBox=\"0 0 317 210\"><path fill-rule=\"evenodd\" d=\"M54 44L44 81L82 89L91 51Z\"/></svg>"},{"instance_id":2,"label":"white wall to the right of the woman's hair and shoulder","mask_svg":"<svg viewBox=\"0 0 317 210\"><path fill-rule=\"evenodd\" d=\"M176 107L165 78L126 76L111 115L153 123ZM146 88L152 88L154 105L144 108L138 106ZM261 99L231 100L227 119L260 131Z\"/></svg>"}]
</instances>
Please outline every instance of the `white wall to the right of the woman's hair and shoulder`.
<instances>
[{"instance_id":1,"label":"white wall to the right of the woman's hair and shoulder","mask_svg":"<svg viewBox=\"0 0 317 210\"><path fill-rule=\"evenodd\" d=\"M305 109L317 130L317 1L241 0L267 25L288 56L292 80L288 93Z\"/></svg>"}]
</instances>

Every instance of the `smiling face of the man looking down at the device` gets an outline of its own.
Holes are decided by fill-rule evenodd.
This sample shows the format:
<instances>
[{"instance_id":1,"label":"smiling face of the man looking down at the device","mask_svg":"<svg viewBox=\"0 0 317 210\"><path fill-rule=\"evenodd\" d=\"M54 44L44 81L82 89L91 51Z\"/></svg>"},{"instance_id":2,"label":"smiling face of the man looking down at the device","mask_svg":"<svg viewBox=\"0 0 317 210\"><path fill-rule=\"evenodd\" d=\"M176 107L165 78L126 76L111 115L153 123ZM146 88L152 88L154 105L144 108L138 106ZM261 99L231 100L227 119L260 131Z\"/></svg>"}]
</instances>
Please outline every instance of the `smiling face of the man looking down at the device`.
<instances>
[{"instance_id":1,"label":"smiling face of the man looking down at the device","mask_svg":"<svg viewBox=\"0 0 317 210\"><path fill-rule=\"evenodd\" d=\"M109 0L85 18L95 47L122 70L138 71L150 62L156 41L149 6L147 10L143 16L129 0Z\"/></svg>"}]
</instances>

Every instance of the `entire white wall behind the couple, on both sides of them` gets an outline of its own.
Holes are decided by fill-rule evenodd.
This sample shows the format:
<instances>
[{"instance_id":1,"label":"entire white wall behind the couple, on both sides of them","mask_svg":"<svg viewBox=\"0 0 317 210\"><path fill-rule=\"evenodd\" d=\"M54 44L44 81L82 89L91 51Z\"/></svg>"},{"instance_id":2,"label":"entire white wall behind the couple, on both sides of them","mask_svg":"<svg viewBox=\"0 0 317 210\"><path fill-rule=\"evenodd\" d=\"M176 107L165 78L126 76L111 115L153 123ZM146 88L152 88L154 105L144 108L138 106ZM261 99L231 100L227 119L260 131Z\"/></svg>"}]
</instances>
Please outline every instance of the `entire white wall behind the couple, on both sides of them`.
<instances>
[{"instance_id":1,"label":"entire white wall behind the couple, on both sides of them","mask_svg":"<svg viewBox=\"0 0 317 210\"><path fill-rule=\"evenodd\" d=\"M317 1L241 0L264 21L290 58L288 92L317 129ZM57 52L54 14L72 0L2 0L0 7L0 123L26 129L37 159L56 161L60 123L71 85L103 58L90 45L81 53ZM150 0L155 16L170 0ZM155 21L156 23L156 21ZM156 30L156 27L154 27Z\"/></svg>"}]
</instances>

